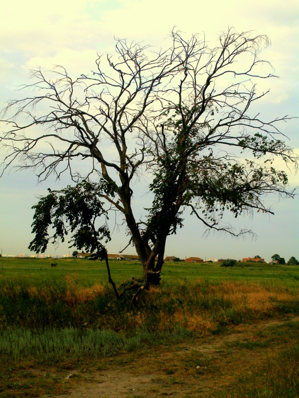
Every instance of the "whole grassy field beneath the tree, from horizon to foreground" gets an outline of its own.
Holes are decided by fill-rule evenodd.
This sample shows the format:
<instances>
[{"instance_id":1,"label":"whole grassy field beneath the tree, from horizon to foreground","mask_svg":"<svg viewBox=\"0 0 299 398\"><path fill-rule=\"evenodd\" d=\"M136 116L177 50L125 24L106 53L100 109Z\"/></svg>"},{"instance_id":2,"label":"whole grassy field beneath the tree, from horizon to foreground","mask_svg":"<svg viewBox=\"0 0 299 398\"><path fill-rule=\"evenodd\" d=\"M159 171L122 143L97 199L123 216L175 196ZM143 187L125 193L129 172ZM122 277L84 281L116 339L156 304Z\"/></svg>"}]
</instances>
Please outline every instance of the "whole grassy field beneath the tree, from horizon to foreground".
<instances>
[{"instance_id":1,"label":"whole grassy field beneath the tree, from horizon to foreground","mask_svg":"<svg viewBox=\"0 0 299 398\"><path fill-rule=\"evenodd\" d=\"M58 266L52 268L53 261L0 258L1 398L58 397L90 381L87 367L119 372L126 364L133 373L149 367L158 372L166 366L161 349L175 364L166 366L164 384L153 377L149 385L156 390L149 386L139 395L107 397L155 397L170 387L175 397L299 397L298 266L165 264L160 288L145 291L131 307L130 291L115 300L103 262L55 259ZM111 273L120 285L140 278L142 267L113 261ZM267 333L263 322L269 323ZM223 343L241 329L241 339ZM211 352L222 344L225 357L198 357L190 348L207 339ZM189 353L179 350L181 345ZM144 358L139 366L136 352ZM247 357L251 364L255 353L259 371L237 366ZM57 374L69 369L78 377L66 385ZM194 375L191 369L203 372ZM202 391L194 387L199 376L206 383ZM217 385L212 379L219 379ZM105 395L97 391L95 396Z\"/></svg>"}]
</instances>

